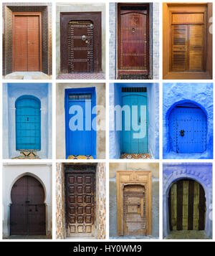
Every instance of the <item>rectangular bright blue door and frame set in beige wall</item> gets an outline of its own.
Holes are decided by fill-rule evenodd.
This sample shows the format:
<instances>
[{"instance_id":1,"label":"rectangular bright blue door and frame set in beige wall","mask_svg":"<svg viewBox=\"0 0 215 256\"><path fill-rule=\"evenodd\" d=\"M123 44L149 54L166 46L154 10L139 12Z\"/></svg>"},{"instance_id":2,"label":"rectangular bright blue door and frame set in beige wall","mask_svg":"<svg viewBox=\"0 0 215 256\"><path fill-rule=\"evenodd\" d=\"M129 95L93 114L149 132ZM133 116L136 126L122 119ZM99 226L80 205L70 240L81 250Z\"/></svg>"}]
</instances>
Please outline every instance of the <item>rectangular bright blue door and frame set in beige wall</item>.
<instances>
[{"instance_id":1,"label":"rectangular bright blue door and frame set in beige wall","mask_svg":"<svg viewBox=\"0 0 215 256\"><path fill-rule=\"evenodd\" d=\"M94 118L96 118L95 87L66 89L66 158L69 156L96 158L96 131L95 125L92 125Z\"/></svg>"}]
</instances>

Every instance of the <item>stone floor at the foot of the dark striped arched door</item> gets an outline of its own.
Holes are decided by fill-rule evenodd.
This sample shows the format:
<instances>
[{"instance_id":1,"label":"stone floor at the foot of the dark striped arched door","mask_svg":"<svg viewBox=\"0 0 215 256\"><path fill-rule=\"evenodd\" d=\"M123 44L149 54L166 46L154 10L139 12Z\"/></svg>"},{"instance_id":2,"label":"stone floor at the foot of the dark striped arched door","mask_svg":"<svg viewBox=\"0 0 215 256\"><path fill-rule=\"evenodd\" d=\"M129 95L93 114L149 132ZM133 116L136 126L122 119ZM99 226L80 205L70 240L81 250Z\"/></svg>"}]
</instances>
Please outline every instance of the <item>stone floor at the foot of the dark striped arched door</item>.
<instances>
[{"instance_id":1,"label":"stone floor at the foot of the dark striped arched door","mask_svg":"<svg viewBox=\"0 0 215 256\"><path fill-rule=\"evenodd\" d=\"M209 239L209 237L206 237L206 234L204 231L199 230L181 230L181 231L171 231L169 236L166 237L166 239L178 239L178 240L191 240L191 239Z\"/></svg>"}]
</instances>

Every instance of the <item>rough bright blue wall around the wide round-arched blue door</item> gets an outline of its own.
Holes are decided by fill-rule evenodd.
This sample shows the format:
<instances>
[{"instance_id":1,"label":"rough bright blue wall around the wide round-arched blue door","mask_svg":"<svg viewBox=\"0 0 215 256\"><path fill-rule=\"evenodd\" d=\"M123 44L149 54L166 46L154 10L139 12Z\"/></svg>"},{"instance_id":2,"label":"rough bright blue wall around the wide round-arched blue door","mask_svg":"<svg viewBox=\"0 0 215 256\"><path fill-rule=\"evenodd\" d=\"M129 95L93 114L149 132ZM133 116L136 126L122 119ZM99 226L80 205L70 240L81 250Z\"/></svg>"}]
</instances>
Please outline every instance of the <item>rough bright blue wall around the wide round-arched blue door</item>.
<instances>
[{"instance_id":1,"label":"rough bright blue wall around the wide round-arched blue door","mask_svg":"<svg viewBox=\"0 0 215 256\"><path fill-rule=\"evenodd\" d=\"M171 151L168 116L178 103L198 105L207 117L206 151L204 153L175 153ZM212 83L163 83L163 158L211 159L213 158L213 84Z\"/></svg>"}]
</instances>

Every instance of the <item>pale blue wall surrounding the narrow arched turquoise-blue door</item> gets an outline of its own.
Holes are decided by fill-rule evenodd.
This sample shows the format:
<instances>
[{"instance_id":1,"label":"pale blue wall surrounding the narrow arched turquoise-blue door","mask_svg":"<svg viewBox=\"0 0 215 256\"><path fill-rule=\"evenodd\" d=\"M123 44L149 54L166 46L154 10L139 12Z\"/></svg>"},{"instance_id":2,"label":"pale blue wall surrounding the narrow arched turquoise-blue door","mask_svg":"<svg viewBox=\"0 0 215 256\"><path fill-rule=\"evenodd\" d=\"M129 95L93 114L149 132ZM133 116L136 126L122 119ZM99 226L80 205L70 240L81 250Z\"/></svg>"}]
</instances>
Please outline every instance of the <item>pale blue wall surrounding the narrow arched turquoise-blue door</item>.
<instances>
[{"instance_id":1,"label":"pale blue wall surrounding the narrow arched turquoise-blue door","mask_svg":"<svg viewBox=\"0 0 215 256\"><path fill-rule=\"evenodd\" d=\"M41 150L39 158L52 158L52 84L4 83L3 84L3 158L20 156L16 151L16 99L32 95L41 102Z\"/></svg>"}]
</instances>

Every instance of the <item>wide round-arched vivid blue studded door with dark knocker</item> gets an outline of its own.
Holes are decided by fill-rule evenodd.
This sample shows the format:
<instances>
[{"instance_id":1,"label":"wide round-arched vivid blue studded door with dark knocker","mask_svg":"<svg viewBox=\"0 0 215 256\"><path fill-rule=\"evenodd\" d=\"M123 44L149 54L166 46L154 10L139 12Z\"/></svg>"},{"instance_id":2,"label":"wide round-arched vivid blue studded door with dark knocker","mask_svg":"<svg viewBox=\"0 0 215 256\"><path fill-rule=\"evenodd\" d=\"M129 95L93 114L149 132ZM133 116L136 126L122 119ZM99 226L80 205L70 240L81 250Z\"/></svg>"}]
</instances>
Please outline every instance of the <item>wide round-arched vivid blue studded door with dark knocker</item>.
<instances>
[{"instance_id":1,"label":"wide round-arched vivid blue studded door with dark knocker","mask_svg":"<svg viewBox=\"0 0 215 256\"><path fill-rule=\"evenodd\" d=\"M198 105L176 105L169 116L171 151L176 153L203 153L206 151L207 118Z\"/></svg>"}]
</instances>

